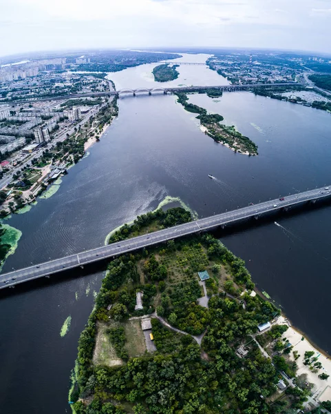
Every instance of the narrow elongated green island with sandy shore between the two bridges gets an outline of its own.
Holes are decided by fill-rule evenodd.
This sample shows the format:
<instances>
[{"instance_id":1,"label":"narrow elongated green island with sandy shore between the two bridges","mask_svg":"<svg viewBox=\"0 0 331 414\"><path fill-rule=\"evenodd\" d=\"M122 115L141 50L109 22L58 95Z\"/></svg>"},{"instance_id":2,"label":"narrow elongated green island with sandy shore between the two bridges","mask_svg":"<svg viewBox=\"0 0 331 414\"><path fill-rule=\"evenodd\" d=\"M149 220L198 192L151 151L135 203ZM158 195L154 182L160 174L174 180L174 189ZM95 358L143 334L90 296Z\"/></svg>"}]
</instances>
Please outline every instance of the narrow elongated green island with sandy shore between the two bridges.
<instances>
[{"instance_id":1,"label":"narrow elongated green island with sandy shore between the two bridges","mask_svg":"<svg viewBox=\"0 0 331 414\"><path fill-rule=\"evenodd\" d=\"M235 126L220 124L220 121L224 119L222 115L208 115L206 109L193 103L188 103L189 97L187 97L186 93L177 92L175 95L178 97L178 103L181 103L185 110L199 114L197 119L200 119L200 124L204 127L204 133L213 138L214 141L220 142L240 154L258 155L257 145L237 131Z\"/></svg>"}]
</instances>

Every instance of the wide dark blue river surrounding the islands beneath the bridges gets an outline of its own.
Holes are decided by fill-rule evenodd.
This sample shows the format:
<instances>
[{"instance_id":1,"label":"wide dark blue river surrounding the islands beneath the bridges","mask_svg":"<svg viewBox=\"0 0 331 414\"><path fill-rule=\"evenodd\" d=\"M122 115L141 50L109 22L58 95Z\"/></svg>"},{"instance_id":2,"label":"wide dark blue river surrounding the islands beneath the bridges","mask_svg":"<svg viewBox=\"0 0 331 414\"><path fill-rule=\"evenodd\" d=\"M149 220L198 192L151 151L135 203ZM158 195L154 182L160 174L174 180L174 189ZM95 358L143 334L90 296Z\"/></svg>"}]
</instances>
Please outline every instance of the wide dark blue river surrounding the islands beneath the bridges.
<instances>
[{"instance_id":1,"label":"wide dark blue river surrounding the islands beneath the bridges","mask_svg":"<svg viewBox=\"0 0 331 414\"><path fill-rule=\"evenodd\" d=\"M156 86L153 66L129 68L109 79L118 89ZM171 84L226 83L205 66L179 71ZM153 210L167 196L179 197L206 217L331 184L330 114L250 92L228 92L219 99L191 95L190 101L223 115L226 124L258 144L259 156L215 144L171 95L120 99L118 119L70 169L58 192L8 221L23 235L3 271L99 246L110 230ZM330 353L331 208L278 221L280 226L266 222L222 241L246 260L254 282L292 323ZM54 276L1 293L1 412L70 412L67 392L77 341L102 277L100 270L58 282ZM61 337L69 315L70 330Z\"/></svg>"}]
</instances>

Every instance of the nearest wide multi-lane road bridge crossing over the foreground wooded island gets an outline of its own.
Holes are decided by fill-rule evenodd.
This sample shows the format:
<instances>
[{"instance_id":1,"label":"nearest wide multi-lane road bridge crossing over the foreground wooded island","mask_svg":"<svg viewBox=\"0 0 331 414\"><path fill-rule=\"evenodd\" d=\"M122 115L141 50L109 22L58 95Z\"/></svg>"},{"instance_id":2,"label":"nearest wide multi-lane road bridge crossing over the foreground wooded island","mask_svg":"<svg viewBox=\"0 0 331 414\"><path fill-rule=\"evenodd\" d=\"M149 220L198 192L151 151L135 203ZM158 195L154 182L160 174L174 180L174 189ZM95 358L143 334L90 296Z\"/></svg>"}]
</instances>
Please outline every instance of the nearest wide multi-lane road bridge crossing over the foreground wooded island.
<instances>
[{"instance_id":1,"label":"nearest wide multi-lane road bridge crossing over the foreground wooded island","mask_svg":"<svg viewBox=\"0 0 331 414\"><path fill-rule=\"evenodd\" d=\"M86 264L167 242L167 240L212 230L217 227L224 228L229 224L235 224L236 222L250 218L258 219L262 215L286 211L292 206L306 203L314 204L318 200L330 199L330 197L331 190L329 190L329 187L317 188L315 190L305 191L304 193L288 195L281 199L273 199L255 205L250 204L244 208L238 208L237 210L213 215L212 217L190 221L189 223L180 224L179 226L165 228L164 230L133 237L131 239L123 240L122 242L108 244L107 246L87 250L76 255L61 257L27 268L13 270L9 273L0 274L0 289L38 279L39 277L49 277L50 275L60 273L63 270L77 268L79 266L83 267Z\"/></svg>"}]
</instances>

